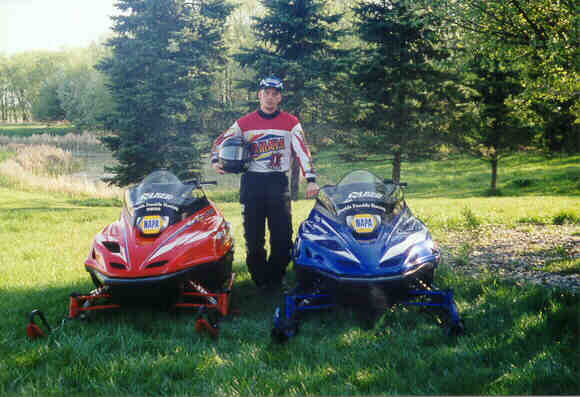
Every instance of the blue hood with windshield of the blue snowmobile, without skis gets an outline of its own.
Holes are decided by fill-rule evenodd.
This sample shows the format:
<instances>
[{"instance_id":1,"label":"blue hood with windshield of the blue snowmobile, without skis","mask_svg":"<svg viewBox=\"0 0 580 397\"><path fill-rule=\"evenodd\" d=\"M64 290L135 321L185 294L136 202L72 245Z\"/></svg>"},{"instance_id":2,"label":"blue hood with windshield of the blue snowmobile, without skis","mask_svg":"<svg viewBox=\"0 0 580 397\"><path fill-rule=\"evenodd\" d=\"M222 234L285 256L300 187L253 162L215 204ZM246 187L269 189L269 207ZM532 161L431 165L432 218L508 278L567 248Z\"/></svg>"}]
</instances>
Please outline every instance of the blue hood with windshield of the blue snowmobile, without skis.
<instances>
[{"instance_id":1,"label":"blue hood with windshield of the blue snowmobile, without skis","mask_svg":"<svg viewBox=\"0 0 580 397\"><path fill-rule=\"evenodd\" d=\"M333 277L393 278L436 266L439 253L401 185L355 171L322 188L298 231L294 260Z\"/></svg>"}]
</instances>

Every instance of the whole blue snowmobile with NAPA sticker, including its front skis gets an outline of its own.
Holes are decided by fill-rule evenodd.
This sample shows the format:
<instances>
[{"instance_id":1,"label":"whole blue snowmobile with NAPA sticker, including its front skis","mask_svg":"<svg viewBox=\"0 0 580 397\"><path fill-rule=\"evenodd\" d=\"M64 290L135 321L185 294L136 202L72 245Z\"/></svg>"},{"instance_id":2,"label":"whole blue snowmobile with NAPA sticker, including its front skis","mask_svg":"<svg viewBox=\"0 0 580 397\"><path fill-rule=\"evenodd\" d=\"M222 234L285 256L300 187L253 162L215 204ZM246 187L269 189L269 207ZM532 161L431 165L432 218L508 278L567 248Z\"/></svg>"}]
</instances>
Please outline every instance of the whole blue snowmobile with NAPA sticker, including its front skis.
<instances>
[{"instance_id":1,"label":"whole blue snowmobile with NAPA sticker, including its front skis","mask_svg":"<svg viewBox=\"0 0 580 397\"><path fill-rule=\"evenodd\" d=\"M302 313L337 305L375 312L397 304L429 308L450 334L464 332L453 291L433 285L440 250L407 206L405 187L356 170L320 189L298 230L297 286L276 308L274 341L294 336Z\"/></svg>"}]
</instances>

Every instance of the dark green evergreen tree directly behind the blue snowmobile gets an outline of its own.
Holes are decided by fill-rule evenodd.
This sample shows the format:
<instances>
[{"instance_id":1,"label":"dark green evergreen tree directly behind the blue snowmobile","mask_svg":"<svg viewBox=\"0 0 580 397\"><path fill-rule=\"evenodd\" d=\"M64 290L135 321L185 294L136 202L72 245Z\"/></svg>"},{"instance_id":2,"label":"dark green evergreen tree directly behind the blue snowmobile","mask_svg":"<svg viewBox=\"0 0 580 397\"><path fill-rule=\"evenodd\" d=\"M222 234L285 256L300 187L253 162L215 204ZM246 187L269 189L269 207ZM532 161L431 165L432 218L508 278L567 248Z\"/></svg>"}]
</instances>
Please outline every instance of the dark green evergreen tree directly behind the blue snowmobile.
<instances>
[{"instance_id":1,"label":"dark green evergreen tree directly behind the blue snowmobile","mask_svg":"<svg viewBox=\"0 0 580 397\"><path fill-rule=\"evenodd\" d=\"M436 148L438 95L450 78L436 63L448 52L438 21L416 0L365 1L354 12L364 45L352 61L357 99L343 113L354 116L362 148L393 155L392 178L399 181L404 156Z\"/></svg>"}]
</instances>

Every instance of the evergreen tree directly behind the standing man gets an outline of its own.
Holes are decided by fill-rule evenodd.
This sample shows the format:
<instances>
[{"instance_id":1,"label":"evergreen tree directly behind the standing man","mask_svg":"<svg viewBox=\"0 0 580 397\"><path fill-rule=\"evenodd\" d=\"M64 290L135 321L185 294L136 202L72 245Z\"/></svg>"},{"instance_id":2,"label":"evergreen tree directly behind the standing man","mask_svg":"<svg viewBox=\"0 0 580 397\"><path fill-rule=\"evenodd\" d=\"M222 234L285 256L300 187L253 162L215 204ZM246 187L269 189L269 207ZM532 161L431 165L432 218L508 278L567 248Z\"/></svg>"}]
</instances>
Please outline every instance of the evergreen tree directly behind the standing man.
<instances>
[{"instance_id":1,"label":"evergreen tree directly behind the standing man","mask_svg":"<svg viewBox=\"0 0 580 397\"><path fill-rule=\"evenodd\" d=\"M324 0L262 0L265 14L255 17L252 30L260 45L242 48L235 55L242 66L258 76L276 75L284 80L283 107L301 121L309 102L324 95L326 82L337 71L340 52L333 48L341 32L340 15L325 12ZM242 84L257 90L256 81ZM305 127L306 133L308 133ZM298 198L298 165L292 167L291 195Z\"/></svg>"}]
</instances>

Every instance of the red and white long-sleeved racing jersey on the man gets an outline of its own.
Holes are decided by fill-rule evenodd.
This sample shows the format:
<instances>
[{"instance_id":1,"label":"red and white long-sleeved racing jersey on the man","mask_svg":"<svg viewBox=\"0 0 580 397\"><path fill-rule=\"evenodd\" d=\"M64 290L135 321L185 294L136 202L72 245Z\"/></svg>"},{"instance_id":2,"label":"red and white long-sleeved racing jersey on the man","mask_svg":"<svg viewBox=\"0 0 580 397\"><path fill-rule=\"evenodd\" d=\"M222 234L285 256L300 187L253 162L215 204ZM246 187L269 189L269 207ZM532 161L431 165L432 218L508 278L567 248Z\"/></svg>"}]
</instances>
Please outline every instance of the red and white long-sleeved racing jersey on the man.
<instances>
[{"instance_id":1,"label":"red and white long-sleeved racing jersey on the man","mask_svg":"<svg viewBox=\"0 0 580 397\"><path fill-rule=\"evenodd\" d=\"M269 115L257 110L242 117L215 140L212 163L218 161L220 145L232 136L241 136L249 144L248 172L286 172L290 169L292 156L295 156L306 180L316 180L312 156L300 121L295 116L280 111Z\"/></svg>"}]
</instances>

